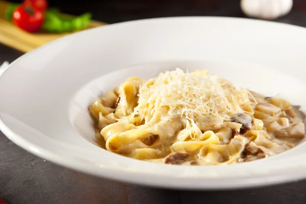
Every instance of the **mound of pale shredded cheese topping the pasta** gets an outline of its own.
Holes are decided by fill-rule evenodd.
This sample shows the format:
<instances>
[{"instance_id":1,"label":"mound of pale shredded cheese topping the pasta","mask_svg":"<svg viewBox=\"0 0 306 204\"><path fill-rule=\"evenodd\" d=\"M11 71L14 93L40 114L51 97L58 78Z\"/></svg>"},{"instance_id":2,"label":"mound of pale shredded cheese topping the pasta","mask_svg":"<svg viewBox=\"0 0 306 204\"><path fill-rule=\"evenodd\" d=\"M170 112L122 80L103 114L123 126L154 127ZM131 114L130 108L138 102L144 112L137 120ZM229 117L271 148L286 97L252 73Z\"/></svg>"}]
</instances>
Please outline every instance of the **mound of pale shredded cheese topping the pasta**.
<instances>
[{"instance_id":1,"label":"mound of pale shredded cheese topping the pasta","mask_svg":"<svg viewBox=\"0 0 306 204\"><path fill-rule=\"evenodd\" d=\"M163 110L166 115L186 118L191 124L207 115L227 119L245 112L242 107L250 105L248 94L246 89L233 86L207 70L189 73L176 68L140 86L138 106L132 115L148 122L154 120L156 113L163 117L160 114Z\"/></svg>"}]
</instances>

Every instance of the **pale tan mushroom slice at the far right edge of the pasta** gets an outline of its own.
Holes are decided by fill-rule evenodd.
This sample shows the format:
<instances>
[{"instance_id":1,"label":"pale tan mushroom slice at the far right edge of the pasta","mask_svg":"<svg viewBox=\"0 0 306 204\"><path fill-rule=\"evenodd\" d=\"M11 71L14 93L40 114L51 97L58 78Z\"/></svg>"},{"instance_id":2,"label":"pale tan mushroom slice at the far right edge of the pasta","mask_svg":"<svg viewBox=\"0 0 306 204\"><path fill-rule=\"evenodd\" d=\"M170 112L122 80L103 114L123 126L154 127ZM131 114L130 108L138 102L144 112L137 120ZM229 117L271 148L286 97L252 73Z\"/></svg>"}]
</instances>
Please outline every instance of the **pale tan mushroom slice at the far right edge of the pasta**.
<instances>
[{"instance_id":1,"label":"pale tan mushroom slice at the far right edge of the pasta","mask_svg":"<svg viewBox=\"0 0 306 204\"><path fill-rule=\"evenodd\" d=\"M303 138L305 136L305 126L304 123L298 122L292 126L286 127L285 129L281 129L275 131L275 137L278 138Z\"/></svg>"}]
</instances>

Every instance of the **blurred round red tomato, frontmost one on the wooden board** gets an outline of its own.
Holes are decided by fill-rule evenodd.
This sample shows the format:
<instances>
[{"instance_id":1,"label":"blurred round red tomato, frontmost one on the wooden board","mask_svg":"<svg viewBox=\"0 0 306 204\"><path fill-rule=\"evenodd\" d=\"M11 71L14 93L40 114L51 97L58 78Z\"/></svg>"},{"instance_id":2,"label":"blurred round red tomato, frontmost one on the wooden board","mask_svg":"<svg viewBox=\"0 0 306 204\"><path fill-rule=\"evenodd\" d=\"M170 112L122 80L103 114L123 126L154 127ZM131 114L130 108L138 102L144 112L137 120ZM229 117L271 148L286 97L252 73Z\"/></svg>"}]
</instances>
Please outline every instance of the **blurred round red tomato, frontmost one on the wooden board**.
<instances>
[{"instance_id":1,"label":"blurred round red tomato, frontmost one on the wooden board","mask_svg":"<svg viewBox=\"0 0 306 204\"><path fill-rule=\"evenodd\" d=\"M19 6L13 12L13 22L25 31L35 32L42 25L43 13L31 6Z\"/></svg>"}]
</instances>

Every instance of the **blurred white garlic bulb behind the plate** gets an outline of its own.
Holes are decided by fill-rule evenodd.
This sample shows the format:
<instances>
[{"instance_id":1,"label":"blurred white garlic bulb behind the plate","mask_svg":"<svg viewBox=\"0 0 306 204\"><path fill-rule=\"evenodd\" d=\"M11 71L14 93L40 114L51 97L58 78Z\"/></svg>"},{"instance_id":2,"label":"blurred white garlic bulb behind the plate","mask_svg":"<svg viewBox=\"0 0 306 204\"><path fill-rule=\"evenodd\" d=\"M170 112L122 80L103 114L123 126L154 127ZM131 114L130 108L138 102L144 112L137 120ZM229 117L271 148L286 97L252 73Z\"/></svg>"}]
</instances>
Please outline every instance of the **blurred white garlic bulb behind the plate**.
<instances>
[{"instance_id":1,"label":"blurred white garlic bulb behind the plate","mask_svg":"<svg viewBox=\"0 0 306 204\"><path fill-rule=\"evenodd\" d=\"M252 18L272 20L284 16L292 9L292 0L241 0L243 13Z\"/></svg>"}]
</instances>

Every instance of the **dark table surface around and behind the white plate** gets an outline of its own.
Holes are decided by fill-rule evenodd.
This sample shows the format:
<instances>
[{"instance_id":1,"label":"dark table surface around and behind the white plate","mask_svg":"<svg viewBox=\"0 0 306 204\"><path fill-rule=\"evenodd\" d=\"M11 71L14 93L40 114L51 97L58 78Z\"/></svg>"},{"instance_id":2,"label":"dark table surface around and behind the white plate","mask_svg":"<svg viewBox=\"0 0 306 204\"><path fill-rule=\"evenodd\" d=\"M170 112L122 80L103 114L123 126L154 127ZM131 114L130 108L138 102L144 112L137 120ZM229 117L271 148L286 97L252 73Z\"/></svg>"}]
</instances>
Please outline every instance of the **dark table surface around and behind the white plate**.
<instances>
[{"instance_id":1,"label":"dark table surface around and behind the white plate","mask_svg":"<svg viewBox=\"0 0 306 204\"><path fill-rule=\"evenodd\" d=\"M239 1L86 1L85 5L50 1L70 14L91 11L108 23L151 17L211 15L244 17ZM143 3L147 2L147 3ZM162 3L161 3L162 2ZM278 22L306 27L305 1L294 1L292 12ZM0 44L0 63L22 53ZM1 96L0 96L1 99ZM0 132L0 197L8 203L306 203L306 180L232 191L177 191L134 186L79 173L40 159Z\"/></svg>"}]
</instances>

